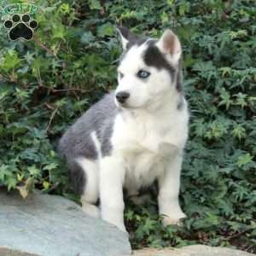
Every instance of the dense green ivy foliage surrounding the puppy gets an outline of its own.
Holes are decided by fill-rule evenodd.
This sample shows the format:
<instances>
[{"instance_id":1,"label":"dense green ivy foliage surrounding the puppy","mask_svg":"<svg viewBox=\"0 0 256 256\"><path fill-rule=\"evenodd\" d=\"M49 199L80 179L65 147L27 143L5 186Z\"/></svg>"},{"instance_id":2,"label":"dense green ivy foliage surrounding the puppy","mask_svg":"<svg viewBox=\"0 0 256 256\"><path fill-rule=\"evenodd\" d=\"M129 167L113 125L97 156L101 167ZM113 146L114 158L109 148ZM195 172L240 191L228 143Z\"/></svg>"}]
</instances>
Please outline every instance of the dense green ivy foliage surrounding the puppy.
<instances>
[{"instance_id":1,"label":"dense green ivy foliage surrounding the puppy","mask_svg":"<svg viewBox=\"0 0 256 256\"><path fill-rule=\"evenodd\" d=\"M9 1L9 3L22 1ZM26 2L26 1L23 1ZM164 228L155 198L125 210L133 247L204 243L256 253L256 2L41 0L29 42L0 23L0 184L72 197L55 144L116 86L115 26L183 44L190 137L183 163L183 227ZM2 20L7 17L2 16Z\"/></svg>"}]
</instances>

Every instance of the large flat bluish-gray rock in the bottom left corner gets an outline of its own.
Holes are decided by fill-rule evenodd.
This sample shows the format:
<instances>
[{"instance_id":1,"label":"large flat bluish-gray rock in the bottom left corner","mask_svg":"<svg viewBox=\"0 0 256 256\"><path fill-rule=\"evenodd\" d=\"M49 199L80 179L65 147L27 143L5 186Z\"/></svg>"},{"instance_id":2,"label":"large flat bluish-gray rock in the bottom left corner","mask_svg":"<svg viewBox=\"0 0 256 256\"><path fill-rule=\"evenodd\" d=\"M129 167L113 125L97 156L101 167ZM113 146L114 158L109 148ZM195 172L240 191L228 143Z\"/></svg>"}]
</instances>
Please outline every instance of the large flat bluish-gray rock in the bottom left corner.
<instances>
[{"instance_id":1,"label":"large flat bluish-gray rock in the bottom left corner","mask_svg":"<svg viewBox=\"0 0 256 256\"><path fill-rule=\"evenodd\" d=\"M22 253L21 253L22 252ZM130 254L127 234L90 218L57 196L0 190L0 256L120 256Z\"/></svg>"}]
</instances>

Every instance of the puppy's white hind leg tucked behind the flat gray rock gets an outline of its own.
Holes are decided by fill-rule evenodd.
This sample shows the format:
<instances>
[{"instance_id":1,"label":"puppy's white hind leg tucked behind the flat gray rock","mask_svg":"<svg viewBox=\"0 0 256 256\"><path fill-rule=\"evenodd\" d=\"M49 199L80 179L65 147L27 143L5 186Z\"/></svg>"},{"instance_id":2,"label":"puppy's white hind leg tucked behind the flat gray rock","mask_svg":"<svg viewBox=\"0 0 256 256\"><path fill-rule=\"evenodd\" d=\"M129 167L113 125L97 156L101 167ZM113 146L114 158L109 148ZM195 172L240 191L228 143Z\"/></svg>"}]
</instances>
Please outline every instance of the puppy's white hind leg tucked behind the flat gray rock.
<instances>
[{"instance_id":1,"label":"puppy's white hind leg tucked behind the flat gray rock","mask_svg":"<svg viewBox=\"0 0 256 256\"><path fill-rule=\"evenodd\" d=\"M100 210L95 205L99 198L97 163L85 158L79 158L76 161L85 177L84 189L81 193L82 209L91 217L99 218Z\"/></svg>"}]
</instances>

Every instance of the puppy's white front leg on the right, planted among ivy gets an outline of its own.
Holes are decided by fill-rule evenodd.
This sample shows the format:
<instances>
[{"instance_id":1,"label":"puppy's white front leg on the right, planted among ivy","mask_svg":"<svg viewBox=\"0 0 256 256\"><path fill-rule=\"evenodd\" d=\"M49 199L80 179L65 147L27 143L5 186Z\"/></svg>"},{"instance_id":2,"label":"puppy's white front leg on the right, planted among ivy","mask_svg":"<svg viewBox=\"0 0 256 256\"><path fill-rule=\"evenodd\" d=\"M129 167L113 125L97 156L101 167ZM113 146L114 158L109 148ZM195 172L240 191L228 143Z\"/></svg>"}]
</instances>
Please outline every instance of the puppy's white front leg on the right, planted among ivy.
<instances>
[{"instance_id":1,"label":"puppy's white front leg on the right, planted among ivy","mask_svg":"<svg viewBox=\"0 0 256 256\"><path fill-rule=\"evenodd\" d=\"M177 153L168 161L164 174L159 177L158 205L165 225L180 224L180 220L186 217L178 202L181 165L182 155Z\"/></svg>"}]
</instances>

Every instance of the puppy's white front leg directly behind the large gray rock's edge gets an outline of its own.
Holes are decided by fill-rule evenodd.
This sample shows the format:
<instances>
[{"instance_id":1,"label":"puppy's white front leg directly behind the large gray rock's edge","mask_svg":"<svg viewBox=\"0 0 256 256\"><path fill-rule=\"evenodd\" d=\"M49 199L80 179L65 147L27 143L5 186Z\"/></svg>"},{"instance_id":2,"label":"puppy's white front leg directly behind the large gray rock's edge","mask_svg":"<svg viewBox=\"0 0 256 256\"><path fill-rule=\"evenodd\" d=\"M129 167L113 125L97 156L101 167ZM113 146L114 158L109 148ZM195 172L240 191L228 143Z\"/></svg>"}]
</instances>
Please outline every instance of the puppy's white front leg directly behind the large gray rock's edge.
<instances>
[{"instance_id":1,"label":"puppy's white front leg directly behind the large gray rock's edge","mask_svg":"<svg viewBox=\"0 0 256 256\"><path fill-rule=\"evenodd\" d=\"M124 163L120 158L105 157L100 165L100 200L102 219L125 230L123 183Z\"/></svg>"}]
</instances>

